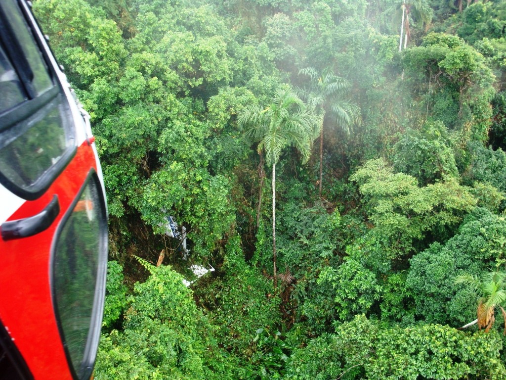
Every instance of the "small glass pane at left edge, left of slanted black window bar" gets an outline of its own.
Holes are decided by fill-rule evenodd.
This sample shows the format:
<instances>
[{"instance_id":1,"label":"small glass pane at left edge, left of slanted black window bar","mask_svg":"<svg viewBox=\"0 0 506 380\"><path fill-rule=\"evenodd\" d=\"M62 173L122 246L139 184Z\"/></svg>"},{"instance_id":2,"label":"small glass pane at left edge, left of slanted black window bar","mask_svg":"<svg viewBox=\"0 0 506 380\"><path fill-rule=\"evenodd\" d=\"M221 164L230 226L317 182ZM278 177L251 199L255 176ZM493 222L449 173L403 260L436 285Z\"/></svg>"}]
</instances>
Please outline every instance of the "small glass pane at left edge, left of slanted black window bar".
<instances>
[{"instance_id":1,"label":"small glass pane at left edge, left of slanted black window bar","mask_svg":"<svg viewBox=\"0 0 506 380\"><path fill-rule=\"evenodd\" d=\"M18 74L0 46L0 112L26 100L23 88L19 82Z\"/></svg>"}]
</instances>

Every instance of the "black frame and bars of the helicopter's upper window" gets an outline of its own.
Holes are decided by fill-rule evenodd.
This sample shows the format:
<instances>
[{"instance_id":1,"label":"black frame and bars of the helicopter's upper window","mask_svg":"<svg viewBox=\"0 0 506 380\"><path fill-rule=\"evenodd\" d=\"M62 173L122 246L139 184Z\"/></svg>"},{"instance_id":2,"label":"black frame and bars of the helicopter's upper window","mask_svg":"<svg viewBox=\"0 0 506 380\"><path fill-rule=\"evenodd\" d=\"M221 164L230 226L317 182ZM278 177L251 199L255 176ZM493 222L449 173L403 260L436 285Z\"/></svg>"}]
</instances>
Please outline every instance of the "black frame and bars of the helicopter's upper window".
<instances>
[{"instance_id":1,"label":"black frame and bars of the helicopter's upper window","mask_svg":"<svg viewBox=\"0 0 506 380\"><path fill-rule=\"evenodd\" d=\"M75 141L75 121L70 109L69 99L65 94L63 85L58 78L55 67L51 63L50 55L53 56L53 54L45 48L43 43L41 43L37 30L35 29L39 28L39 26L32 24L33 18L28 15L28 12L30 11L28 10L26 3L21 0L2 0L2 2L4 1L12 1L19 8L37 49L41 53L47 67L49 77L53 83L53 87L39 96L35 95L35 91L30 82L30 75L33 76L33 73L30 74L31 69L28 61L26 60L26 57L24 57L19 44L16 42L16 37L12 31L12 27L9 26L9 17L5 14L5 11L0 3L0 44L2 44L10 63L18 74L20 82L26 91L24 95L27 96L27 100L19 103L18 105L4 111L0 110L0 140L7 130L16 128L16 123L26 120L33 114L33 112L43 108L46 104L50 103L58 96L61 96L61 104L64 107L64 111L62 112L64 115L62 115L62 118L65 120L63 120L62 131L70 136L70 139L73 139L73 144L64 150L64 153L58 162L51 165L29 186L24 188L20 187L0 172L0 184L16 196L32 201L39 198L47 191L47 189L75 156L77 152L77 142Z\"/></svg>"}]
</instances>

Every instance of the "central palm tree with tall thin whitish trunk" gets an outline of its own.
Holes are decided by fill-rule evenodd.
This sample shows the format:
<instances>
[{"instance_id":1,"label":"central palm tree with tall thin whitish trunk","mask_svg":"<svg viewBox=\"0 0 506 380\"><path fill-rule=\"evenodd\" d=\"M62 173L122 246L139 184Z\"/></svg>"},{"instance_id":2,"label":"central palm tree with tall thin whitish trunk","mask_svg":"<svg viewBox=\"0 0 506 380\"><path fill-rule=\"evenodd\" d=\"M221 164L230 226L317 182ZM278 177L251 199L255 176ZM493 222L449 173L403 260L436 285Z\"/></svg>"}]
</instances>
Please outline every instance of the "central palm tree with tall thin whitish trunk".
<instances>
[{"instance_id":1,"label":"central palm tree with tall thin whitish trunk","mask_svg":"<svg viewBox=\"0 0 506 380\"><path fill-rule=\"evenodd\" d=\"M272 166L272 254L275 288L277 288L276 164L286 146L297 148L303 162L307 162L311 153L310 136L314 123L312 116L306 110L304 102L291 89L278 90L265 109L250 104L239 112L239 126L247 128L246 135L260 141L259 151L265 152L267 164Z\"/></svg>"}]
</instances>

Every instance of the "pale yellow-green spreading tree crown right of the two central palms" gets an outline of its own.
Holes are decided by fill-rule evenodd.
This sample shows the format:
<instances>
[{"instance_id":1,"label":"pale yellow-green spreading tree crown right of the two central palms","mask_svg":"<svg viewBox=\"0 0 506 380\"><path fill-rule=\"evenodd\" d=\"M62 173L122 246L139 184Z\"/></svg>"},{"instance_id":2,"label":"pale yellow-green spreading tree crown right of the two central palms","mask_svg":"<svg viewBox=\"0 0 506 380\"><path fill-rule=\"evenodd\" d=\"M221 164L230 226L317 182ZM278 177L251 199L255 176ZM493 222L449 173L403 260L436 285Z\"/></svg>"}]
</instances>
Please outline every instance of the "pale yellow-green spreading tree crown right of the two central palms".
<instances>
[{"instance_id":1,"label":"pale yellow-green spreading tree crown right of the two central palms","mask_svg":"<svg viewBox=\"0 0 506 380\"><path fill-rule=\"evenodd\" d=\"M477 204L471 189L455 178L418 187L416 178L394 173L384 159L366 162L350 179L359 184L374 226L354 250L382 271L389 260L423 249L427 237L446 238Z\"/></svg>"}]
</instances>

